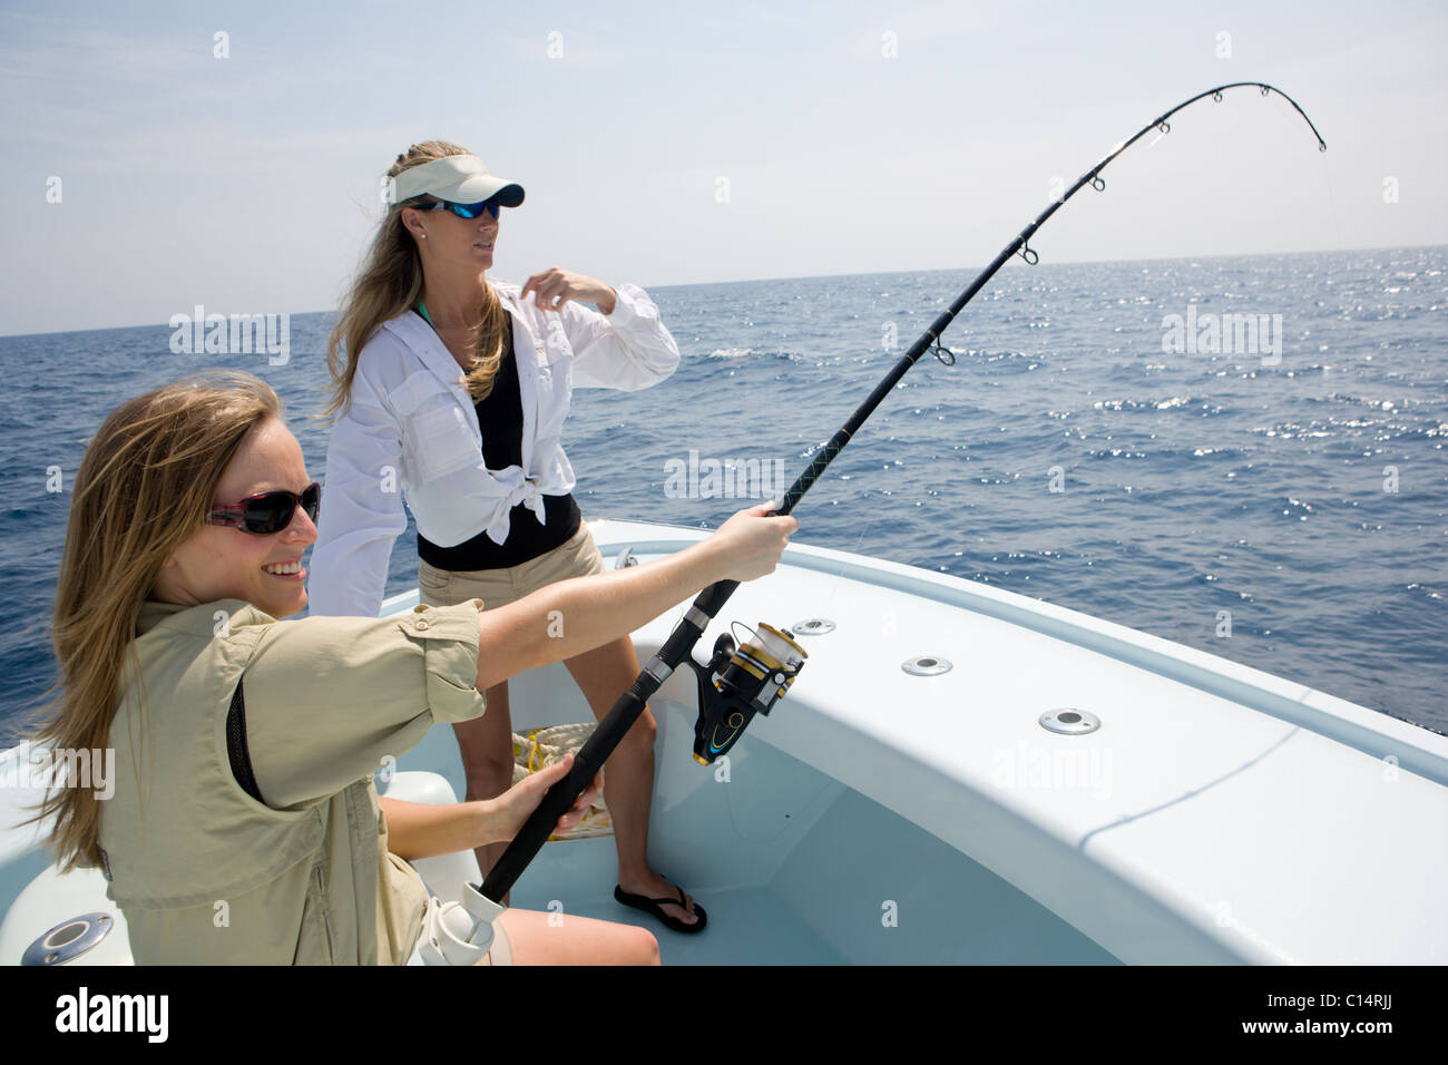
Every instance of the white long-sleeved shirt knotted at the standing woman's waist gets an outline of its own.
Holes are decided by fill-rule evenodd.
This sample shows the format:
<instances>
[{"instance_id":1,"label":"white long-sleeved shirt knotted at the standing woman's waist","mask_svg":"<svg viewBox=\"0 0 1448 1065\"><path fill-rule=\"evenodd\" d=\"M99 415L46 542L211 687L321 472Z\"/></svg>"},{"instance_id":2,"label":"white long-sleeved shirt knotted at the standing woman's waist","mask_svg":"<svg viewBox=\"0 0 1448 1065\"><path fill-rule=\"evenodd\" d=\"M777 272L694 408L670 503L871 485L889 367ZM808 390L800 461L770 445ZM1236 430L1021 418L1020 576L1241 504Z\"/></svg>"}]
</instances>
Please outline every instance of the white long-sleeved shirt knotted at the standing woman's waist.
<instances>
[{"instance_id":1,"label":"white long-sleeved shirt knotted at the standing woman's waist","mask_svg":"<svg viewBox=\"0 0 1448 1065\"><path fill-rule=\"evenodd\" d=\"M569 301L560 312L518 300L518 285L489 283L513 322L523 398L523 464L488 469L462 368L437 333L408 310L362 348L348 407L327 446L326 491L308 567L313 614L365 614L382 606L392 540L407 529L450 548L481 532L508 536L523 503L543 520L543 496L573 488L559 443L573 387L647 388L679 365L659 309L637 285L617 287L604 316Z\"/></svg>"}]
</instances>

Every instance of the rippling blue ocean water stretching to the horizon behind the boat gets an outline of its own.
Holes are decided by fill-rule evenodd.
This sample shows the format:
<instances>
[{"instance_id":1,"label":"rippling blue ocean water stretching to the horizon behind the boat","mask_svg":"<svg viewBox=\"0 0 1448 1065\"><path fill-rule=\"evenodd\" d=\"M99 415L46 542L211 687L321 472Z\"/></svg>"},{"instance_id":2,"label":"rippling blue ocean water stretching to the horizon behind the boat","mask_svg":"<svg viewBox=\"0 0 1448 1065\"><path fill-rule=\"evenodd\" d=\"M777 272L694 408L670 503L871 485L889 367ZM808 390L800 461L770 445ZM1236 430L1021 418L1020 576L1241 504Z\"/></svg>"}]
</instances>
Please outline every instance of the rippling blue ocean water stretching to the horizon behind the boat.
<instances>
[{"instance_id":1,"label":"rippling blue ocean water stretching to the horizon behind the boat","mask_svg":"<svg viewBox=\"0 0 1448 1065\"><path fill-rule=\"evenodd\" d=\"M798 507L796 540L988 581L1448 732L1445 270L1442 246L1012 262L946 335L956 365L922 359ZM792 480L975 274L650 290L683 362L647 391L575 393L584 513L712 526L746 506L670 490L691 449ZM70 480L104 414L185 372L251 369L321 474L326 429L307 416L330 322L291 316L279 367L175 355L168 326L0 338L0 745L55 677ZM408 526L388 594L416 571Z\"/></svg>"}]
</instances>

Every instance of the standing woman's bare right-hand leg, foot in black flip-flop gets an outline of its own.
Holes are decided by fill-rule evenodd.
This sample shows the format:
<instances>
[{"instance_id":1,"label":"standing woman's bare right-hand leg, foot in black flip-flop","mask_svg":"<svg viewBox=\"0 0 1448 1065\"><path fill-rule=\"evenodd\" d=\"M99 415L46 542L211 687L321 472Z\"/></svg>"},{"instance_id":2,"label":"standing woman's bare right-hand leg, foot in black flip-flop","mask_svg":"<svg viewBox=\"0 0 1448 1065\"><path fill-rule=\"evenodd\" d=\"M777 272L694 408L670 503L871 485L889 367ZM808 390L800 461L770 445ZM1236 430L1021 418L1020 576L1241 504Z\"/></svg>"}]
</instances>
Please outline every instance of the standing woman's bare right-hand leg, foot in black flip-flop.
<instances>
[{"instance_id":1,"label":"standing woman's bare right-hand leg, foot in black flip-flop","mask_svg":"<svg viewBox=\"0 0 1448 1065\"><path fill-rule=\"evenodd\" d=\"M594 717L599 720L639 675L639 655L627 636L571 658L565 665L588 700ZM618 887L647 898L678 898L675 887L649 868L649 806L653 801L656 733L653 714L644 707L604 764L604 798L614 822L614 843L618 848ZM663 911L685 924L694 924L698 920L694 900L689 895L685 900L688 910L669 904Z\"/></svg>"}]
</instances>

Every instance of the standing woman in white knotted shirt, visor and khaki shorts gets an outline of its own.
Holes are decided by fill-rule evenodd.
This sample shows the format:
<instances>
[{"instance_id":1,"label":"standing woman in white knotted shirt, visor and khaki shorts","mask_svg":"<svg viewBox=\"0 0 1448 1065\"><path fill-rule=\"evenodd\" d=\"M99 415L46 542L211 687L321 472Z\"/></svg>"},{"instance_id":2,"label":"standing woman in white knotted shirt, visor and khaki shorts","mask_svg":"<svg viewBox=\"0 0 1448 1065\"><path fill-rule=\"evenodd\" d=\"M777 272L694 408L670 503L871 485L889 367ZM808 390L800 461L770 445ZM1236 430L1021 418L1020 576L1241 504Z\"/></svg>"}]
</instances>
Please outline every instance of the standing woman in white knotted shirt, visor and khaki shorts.
<instances>
[{"instance_id":1,"label":"standing woman in white knotted shirt, visor and khaki shorts","mask_svg":"<svg viewBox=\"0 0 1448 1065\"><path fill-rule=\"evenodd\" d=\"M413 145L388 178L387 216L329 343L329 413L339 414L311 613L376 614L392 540L407 527L398 488L417 522L426 604L476 597L494 609L601 572L559 440L573 385L637 390L673 372L679 351L657 307L636 285L556 267L521 288L488 278L501 207L524 193L458 145ZM566 665L598 717L640 668L627 636ZM468 800L513 782L507 682L487 701L484 717L453 726ZM605 767L614 897L698 932L702 907L647 862L654 730L646 709ZM501 852L478 848L479 869Z\"/></svg>"}]
</instances>

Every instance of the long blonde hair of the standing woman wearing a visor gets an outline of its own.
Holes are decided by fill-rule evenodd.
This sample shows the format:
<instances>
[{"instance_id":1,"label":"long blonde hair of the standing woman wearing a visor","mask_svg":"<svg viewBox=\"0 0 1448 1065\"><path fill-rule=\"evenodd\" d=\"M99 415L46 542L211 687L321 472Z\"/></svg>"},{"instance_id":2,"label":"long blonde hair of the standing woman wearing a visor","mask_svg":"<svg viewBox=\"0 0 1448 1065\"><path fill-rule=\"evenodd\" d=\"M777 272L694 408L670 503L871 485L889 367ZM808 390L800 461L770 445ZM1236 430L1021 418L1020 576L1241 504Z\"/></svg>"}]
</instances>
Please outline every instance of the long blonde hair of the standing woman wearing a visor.
<instances>
[{"instance_id":1,"label":"long blonde hair of the standing woman wearing a visor","mask_svg":"<svg viewBox=\"0 0 1448 1065\"><path fill-rule=\"evenodd\" d=\"M388 167L387 175L395 178L404 170L446 159L450 155L471 155L471 152L449 141L423 141L398 155ZM352 378L358 371L358 356L372 335L384 322L417 306L423 294L423 261L417 252L417 241L403 225L403 209L433 200L436 197L418 196L392 203L382 216L362 271L352 283L352 291L327 341L332 401L323 412L324 417L346 407L352 393ZM492 285L484 285L484 293L479 322L472 326L468 341L473 362L462 375L462 384L475 403L492 391L492 380L502 362L504 330L508 326L508 313L502 309Z\"/></svg>"}]
</instances>

